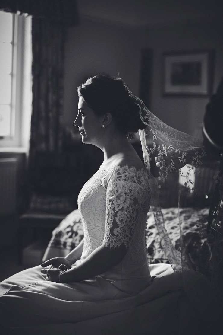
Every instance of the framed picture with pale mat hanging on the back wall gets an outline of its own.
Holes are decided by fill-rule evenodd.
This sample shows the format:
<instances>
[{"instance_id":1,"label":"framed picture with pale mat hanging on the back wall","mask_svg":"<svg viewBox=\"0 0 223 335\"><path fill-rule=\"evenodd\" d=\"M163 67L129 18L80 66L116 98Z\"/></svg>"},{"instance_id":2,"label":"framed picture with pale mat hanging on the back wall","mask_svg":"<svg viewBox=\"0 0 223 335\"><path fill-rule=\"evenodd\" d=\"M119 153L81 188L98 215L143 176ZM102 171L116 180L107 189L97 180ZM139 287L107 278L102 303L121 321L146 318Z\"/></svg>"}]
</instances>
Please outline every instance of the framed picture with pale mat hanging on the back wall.
<instances>
[{"instance_id":1,"label":"framed picture with pale mat hanging on the back wall","mask_svg":"<svg viewBox=\"0 0 223 335\"><path fill-rule=\"evenodd\" d=\"M163 54L164 95L207 96L212 80L212 50Z\"/></svg>"}]
</instances>

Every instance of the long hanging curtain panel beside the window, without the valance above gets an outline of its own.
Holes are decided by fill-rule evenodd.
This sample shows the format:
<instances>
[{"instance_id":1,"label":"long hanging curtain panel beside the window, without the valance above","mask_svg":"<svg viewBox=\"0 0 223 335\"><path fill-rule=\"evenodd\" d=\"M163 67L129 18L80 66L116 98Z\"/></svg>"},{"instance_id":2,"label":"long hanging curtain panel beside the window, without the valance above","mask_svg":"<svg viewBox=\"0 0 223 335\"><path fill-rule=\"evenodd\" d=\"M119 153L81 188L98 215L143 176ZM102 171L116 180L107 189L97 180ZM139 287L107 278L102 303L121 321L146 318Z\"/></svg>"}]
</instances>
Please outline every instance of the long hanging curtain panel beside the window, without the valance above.
<instances>
[{"instance_id":1,"label":"long hanging curtain panel beside the window, without the valance above","mask_svg":"<svg viewBox=\"0 0 223 335\"><path fill-rule=\"evenodd\" d=\"M64 43L63 24L33 17L30 159L62 149Z\"/></svg>"}]
</instances>

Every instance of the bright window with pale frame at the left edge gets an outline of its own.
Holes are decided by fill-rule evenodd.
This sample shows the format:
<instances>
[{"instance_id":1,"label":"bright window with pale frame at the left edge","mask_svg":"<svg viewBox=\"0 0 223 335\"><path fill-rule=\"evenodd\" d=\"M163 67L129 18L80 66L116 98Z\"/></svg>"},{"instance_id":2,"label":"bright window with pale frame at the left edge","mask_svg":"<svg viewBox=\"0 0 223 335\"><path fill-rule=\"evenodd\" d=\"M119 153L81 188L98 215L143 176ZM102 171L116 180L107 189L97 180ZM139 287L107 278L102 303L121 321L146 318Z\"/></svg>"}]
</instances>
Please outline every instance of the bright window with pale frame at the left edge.
<instances>
[{"instance_id":1,"label":"bright window with pale frame at the left edge","mask_svg":"<svg viewBox=\"0 0 223 335\"><path fill-rule=\"evenodd\" d=\"M31 17L0 11L0 147L28 149L31 61Z\"/></svg>"}]
</instances>

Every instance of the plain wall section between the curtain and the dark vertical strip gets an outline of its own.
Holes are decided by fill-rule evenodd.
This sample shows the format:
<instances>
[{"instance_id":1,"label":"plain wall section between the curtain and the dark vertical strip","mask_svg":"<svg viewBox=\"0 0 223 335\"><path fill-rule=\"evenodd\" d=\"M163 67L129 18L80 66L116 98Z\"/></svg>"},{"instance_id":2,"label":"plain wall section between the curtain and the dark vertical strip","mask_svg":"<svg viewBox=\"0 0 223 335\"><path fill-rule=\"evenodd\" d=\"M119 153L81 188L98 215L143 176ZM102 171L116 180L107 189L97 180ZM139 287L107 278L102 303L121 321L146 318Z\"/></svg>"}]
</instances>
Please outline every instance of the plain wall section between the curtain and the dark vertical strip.
<instances>
[{"instance_id":1,"label":"plain wall section between the curtain and the dark vertical strip","mask_svg":"<svg viewBox=\"0 0 223 335\"><path fill-rule=\"evenodd\" d=\"M140 45L138 33L81 20L67 30L65 50L64 123L73 128L77 114L77 86L89 76L102 73L124 79L138 94ZM76 128L76 127L75 127Z\"/></svg>"}]
</instances>

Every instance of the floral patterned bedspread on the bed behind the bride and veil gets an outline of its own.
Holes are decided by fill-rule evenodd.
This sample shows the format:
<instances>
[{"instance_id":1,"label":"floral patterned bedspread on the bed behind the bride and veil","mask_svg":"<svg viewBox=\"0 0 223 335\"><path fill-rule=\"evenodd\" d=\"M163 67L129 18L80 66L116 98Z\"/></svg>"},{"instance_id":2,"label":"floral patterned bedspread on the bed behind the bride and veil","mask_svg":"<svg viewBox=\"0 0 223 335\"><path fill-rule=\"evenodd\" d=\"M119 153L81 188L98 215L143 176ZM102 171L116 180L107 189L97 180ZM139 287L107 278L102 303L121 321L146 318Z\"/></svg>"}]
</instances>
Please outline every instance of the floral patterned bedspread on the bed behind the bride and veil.
<instances>
[{"instance_id":1,"label":"floral patterned bedspread on the bed behind the bride and veil","mask_svg":"<svg viewBox=\"0 0 223 335\"><path fill-rule=\"evenodd\" d=\"M180 248L178 211L179 209L176 207L162 209L165 228L176 249ZM184 222L184 226L182 227L184 231L183 238L187 244L193 244L193 242L196 241L199 242L199 245L203 246L203 249L205 248L205 241L202 239L201 233L198 234L198 226L202 227L202 231L205 235L208 213L208 208L200 210L195 210L193 208L181 209L180 217ZM43 260L51 257L66 256L81 242L83 237L82 220L78 209L76 209L66 216L59 226L53 230L52 238L45 251ZM168 262L162 248L163 241L160 239L154 224L152 211L148 213L146 240L149 264Z\"/></svg>"}]
</instances>

